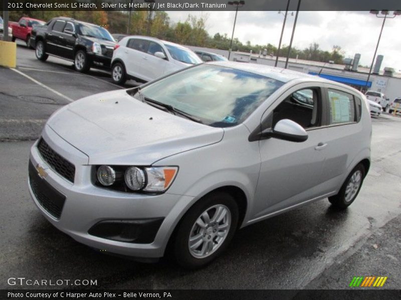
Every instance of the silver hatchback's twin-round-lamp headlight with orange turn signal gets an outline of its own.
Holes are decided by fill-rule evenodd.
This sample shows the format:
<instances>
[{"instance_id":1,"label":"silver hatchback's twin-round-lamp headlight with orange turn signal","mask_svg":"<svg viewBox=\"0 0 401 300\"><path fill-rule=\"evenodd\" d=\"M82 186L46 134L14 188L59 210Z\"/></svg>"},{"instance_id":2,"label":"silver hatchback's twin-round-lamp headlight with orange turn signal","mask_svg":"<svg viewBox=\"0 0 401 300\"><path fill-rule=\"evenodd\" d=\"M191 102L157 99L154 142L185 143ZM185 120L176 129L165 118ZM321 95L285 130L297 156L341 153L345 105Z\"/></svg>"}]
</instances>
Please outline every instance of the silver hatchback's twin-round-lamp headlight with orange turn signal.
<instances>
[{"instance_id":1,"label":"silver hatchback's twin-round-lamp headlight with orange turn signal","mask_svg":"<svg viewBox=\"0 0 401 300\"><path fill-rule=\"evenodd\" d=\"M170 187L177 171L177 166L100 165L95 184L126 192L164 192Z\"/></svg>"}]
</instances>

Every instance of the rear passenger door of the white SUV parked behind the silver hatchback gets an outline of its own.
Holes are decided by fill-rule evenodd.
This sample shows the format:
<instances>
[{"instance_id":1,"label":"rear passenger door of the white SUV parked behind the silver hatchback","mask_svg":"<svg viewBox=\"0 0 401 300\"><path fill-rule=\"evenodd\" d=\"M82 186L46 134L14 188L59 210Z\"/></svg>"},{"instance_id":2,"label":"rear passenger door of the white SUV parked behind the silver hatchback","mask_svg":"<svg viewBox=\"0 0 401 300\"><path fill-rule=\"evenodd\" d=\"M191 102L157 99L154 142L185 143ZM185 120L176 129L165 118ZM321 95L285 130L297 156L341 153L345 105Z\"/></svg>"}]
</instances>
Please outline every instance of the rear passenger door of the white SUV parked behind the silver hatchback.
<instances>
[{"instance_id":1,"label":"rear passenger door of the white SUV parked behind the silver hatchback","mask_svg":"<svg viewBox=\"0 0 401 300\"><path fill-rule=\"evenodd\" d=\"M146 80L143 76L143 55L147 52L149 40L142 38L130 38L127 42L124 64L129 75Z\"/></svg>"}]
</instances>

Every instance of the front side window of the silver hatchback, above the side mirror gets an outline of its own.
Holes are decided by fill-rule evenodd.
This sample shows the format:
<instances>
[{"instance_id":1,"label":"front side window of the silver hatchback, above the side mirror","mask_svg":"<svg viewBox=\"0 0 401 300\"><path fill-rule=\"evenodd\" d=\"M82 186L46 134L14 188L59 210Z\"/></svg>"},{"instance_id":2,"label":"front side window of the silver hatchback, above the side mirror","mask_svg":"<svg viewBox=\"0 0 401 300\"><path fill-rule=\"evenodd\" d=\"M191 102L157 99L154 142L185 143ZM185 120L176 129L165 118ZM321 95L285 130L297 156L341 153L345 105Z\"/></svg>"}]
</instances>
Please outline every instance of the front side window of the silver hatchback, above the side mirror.
<instances>
[{"instance_id":1,"label":"front side window of the silver hatchback, above the side mirror","mask_svg":"<svg viewBox=\"0 0 401 300\"><path fill-rule=\"evenodd\" d=\"M304 128L320 126L321 104L319 87L297 90L273 110L272 127L282 119L290 119Z\"/></svg>"}]
</instances>

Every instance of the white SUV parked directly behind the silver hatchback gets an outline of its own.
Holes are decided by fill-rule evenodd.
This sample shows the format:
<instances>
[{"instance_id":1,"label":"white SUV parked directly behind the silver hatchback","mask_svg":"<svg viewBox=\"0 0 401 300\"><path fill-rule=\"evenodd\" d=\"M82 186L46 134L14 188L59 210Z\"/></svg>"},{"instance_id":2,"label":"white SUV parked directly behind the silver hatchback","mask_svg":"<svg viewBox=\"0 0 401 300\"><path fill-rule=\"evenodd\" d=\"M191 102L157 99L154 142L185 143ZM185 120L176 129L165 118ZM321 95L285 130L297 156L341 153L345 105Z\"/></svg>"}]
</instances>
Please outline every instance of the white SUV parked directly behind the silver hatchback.
<instances>
[{"instance_id":1,"label":"white SUV parked directly behind the silver hatchback","mask_svg":"<svg viewBox=\"0 0 401 300\"><path fill-rule=\"evenodd\" d=\"M111 62L111 77L117 84L130 78L150 81L201 62L195 53L179 44L132 35L124 37L116 45Z\"/></svg>"}]
</instances>

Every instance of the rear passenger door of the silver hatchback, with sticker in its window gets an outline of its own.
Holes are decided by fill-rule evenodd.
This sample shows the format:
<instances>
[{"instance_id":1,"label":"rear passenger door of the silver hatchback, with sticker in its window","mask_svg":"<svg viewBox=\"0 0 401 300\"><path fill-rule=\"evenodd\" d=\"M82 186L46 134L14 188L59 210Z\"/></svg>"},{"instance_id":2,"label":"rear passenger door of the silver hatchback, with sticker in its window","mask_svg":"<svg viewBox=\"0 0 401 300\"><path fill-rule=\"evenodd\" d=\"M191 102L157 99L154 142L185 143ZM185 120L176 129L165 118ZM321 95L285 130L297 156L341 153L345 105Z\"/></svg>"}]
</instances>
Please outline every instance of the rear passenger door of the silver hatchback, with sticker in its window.
<instances>
[{"instance_id":1,"label":"rear passenger door of the silver hatchback, with sticker in its window","mask_svg":"<svg viewBox=\"0 0 401 300\"><path fill-rule=\"evenodd\" d=\"M324 89L327 114L322 128L325 138L325 161L321 179L327 192L338 189L345 179L348 166L356 157L365 138L360 122L362 100L357 93L340 86L326 84Z\"/></svg>"}]
</instances>

